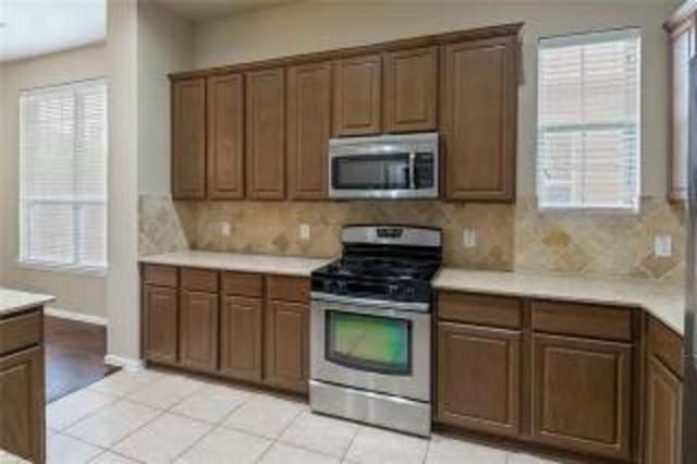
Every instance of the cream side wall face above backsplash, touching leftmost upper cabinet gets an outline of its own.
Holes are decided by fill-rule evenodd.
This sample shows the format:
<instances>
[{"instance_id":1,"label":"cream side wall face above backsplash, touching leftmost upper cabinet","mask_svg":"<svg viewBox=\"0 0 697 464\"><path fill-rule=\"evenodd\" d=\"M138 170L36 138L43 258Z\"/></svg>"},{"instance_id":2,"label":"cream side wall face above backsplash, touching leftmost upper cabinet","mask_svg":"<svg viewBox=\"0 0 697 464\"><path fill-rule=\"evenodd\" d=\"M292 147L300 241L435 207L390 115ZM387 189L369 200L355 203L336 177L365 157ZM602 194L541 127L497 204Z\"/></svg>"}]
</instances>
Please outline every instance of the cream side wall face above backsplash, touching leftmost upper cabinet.
<instances>
[{"instance_id":1,"label":"cream side wall face above backsplash, touching leftmost upper cabinet","mask_svg":"<svg viewBox=\"0 0 697 464\"><path fill-rule=\"evenodd\" d=\"M138 1L138 190L170 192L168 74L194 65L193 27L152 0Z\"/></svg>"}]
</instances>

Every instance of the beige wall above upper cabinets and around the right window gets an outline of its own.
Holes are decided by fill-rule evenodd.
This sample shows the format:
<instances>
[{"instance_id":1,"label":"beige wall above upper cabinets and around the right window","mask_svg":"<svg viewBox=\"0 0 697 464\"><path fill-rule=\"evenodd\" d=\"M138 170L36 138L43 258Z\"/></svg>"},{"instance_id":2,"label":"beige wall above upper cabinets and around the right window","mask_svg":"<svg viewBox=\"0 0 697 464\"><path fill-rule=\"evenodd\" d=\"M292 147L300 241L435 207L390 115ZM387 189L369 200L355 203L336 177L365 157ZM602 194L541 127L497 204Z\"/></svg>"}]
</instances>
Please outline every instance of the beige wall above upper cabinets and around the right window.
<instances>
[{"instance_id":1,"label":"beige wall above upper cabinets and around the right window","mask_svg":"<svg viewBox=\"0 0 697 464\"><path fill-rule=\"evenodd\" d=\"M668 171L668 42L675 0L461 0L301 2L198 23L196 68L525 22L519 93L518 195L535 194L536 45L541 36L625 26L643 33L643 194L664 196Z\"/></svg>"}]
</instances>

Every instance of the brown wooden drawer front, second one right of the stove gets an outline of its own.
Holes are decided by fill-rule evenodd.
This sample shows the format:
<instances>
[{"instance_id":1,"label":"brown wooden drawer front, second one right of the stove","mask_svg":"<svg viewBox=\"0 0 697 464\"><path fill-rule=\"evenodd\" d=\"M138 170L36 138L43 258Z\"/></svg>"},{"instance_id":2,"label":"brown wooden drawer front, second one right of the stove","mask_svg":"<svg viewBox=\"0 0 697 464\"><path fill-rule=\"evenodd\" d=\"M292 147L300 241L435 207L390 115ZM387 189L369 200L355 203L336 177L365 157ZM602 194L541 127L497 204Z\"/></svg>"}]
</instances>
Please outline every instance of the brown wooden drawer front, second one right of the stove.
<instances>
[{"instance_id":1,"label":"brown wooden drawer front, second one right of the stove","mask_svg":"<svg viewBox=\"0 0 697 464\"><path fill-rule=\"evenodd\" d=\"M632 340L632 309L566 302L536 301L533 330L567 335Z\"/></svg>"}]
</instances>

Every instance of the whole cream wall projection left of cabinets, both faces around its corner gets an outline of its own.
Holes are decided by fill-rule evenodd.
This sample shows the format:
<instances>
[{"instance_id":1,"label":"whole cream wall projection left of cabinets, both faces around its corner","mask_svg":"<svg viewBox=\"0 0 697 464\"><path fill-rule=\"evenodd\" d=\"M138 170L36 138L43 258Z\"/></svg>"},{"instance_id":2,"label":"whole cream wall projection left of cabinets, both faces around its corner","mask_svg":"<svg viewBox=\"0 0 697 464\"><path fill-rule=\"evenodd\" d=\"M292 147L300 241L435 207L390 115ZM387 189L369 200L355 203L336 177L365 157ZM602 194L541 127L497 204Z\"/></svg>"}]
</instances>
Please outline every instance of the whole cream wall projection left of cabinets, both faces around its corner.
<instances>
[{"instance_id":1,"label":"whole cream wall projection left of cabinets, both faces around its corner","mask_svg":"<svg viewBox=\"0 0 697 464\"><path fill-rule=\"evenodd\" d=\"M191 69L193 30L151 0L109 0L108 340L111 359L139 358L138 193L169 193L170 72Z\"/></svg>"}]
</instances>

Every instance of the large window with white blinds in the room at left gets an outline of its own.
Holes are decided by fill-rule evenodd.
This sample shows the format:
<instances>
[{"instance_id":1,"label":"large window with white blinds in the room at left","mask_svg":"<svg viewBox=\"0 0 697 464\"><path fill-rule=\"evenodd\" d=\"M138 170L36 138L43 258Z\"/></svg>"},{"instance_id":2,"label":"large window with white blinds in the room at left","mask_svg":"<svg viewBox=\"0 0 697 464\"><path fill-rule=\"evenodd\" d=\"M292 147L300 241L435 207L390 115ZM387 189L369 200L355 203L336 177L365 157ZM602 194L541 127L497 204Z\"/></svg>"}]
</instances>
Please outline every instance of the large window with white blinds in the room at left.
<instances>
[{"instance_id":1,"label":"large window with white blinds in the room at left","mask_svg":"<svg viewBox=\"0 0 697 464\"><path fill-rule=\"evenodd\" d=\"M107 84L20 95L20 261L107 267Z\"/></svg>"}]
</instances>

